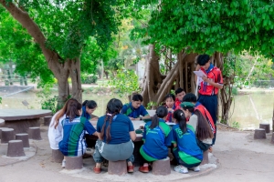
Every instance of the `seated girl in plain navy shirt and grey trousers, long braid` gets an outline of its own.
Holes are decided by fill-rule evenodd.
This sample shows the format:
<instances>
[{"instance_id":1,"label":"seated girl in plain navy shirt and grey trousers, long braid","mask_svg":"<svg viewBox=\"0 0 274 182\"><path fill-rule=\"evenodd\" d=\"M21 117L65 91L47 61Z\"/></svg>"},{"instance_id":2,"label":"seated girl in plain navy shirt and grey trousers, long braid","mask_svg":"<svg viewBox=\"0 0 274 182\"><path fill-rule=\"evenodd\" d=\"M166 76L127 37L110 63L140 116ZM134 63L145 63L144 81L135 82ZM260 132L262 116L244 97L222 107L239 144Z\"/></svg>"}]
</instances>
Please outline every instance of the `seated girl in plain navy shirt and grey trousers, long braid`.
<instances>
[{"instance_id":1,"label":"seated girl in plain navy shirt and grey trousers, long braid","mask_svg":"<svg viewBox=\"0 0 274 182\"><path fill-rule=\"evenodd\" d=\"M120 114L121 101L112 98L107 105L105 116L100 116L97 123L99 139L96 142L93 159L95 173L100 173L103 158L110 161L127 160L128 172L133 172L133 150L136 134L128 116Z\"/></svg>"}]
</instances>

